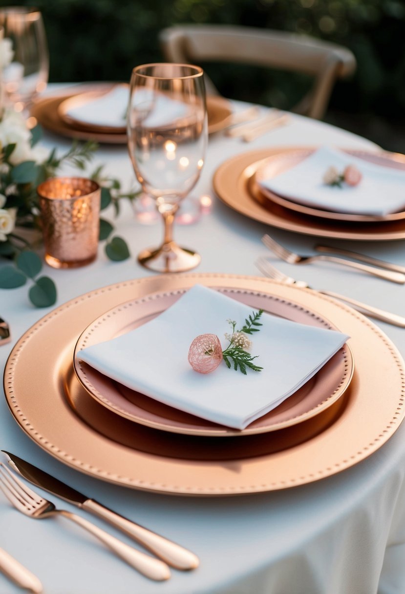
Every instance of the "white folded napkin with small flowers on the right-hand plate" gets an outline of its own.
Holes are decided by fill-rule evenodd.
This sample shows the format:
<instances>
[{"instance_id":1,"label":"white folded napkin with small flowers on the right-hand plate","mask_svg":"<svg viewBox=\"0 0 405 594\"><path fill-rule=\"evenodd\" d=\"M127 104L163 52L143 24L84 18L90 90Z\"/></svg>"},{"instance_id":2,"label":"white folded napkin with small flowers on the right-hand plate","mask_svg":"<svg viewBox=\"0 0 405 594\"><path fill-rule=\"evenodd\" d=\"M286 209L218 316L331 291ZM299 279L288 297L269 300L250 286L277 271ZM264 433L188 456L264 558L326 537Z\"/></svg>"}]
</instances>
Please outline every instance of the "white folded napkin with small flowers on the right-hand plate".
<instances>
[{"instance_id":1,"label":"white folded napkin with small flowers on the right-hand plate","mask_svg":"<svg viewBox=\"0 0 405 594\"><path fill-rule=\"evenodd\" d=\"M339 188L324 183L330 166L343 172L347 165L355 165L362 173L358 185ZM330 147L321 147L261 185L296 203L338 213L384 216L405 209L405 170L375 165Z\"/></svg>"}]
</instances>

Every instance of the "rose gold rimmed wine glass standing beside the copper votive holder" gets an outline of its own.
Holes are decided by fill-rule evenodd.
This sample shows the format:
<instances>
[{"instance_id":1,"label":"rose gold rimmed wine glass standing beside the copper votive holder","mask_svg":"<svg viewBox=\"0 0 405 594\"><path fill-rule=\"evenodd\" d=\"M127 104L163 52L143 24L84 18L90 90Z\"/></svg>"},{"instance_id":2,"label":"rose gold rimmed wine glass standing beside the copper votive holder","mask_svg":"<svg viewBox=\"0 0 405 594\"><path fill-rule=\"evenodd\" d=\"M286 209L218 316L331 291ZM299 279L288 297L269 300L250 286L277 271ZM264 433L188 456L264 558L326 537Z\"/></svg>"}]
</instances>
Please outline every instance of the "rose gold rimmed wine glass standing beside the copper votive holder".
<instances>
[{"instance_id":1,"label":"rose gold rimmed wine glass standing beside the copper votive holder","mask_svg":"<svg viewBox=\"0 0 405 594\"><path fill-rule=\"evenodd\" d=\"M128 106L128 150L135 175L162 215L162 244L144 249L138 261L157 272L182 272L201 261L173 239L181 201L200 178L207 147L203 69L189 64L134 68Z\"/></svg>"}]
</instances>

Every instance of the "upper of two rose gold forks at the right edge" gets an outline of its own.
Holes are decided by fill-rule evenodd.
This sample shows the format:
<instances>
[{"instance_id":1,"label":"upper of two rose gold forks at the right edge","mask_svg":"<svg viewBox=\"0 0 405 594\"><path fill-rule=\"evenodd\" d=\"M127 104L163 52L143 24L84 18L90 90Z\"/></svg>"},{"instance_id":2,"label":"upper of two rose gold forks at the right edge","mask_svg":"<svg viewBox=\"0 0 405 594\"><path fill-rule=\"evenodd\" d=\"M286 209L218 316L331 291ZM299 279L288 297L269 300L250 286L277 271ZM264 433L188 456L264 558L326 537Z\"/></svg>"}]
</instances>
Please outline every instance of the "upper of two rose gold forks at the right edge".
<instances>
[{"instance_id":1,"label":"upper of two rose gold forks at the right edge","mask_svg":"<svg viewBox=\"0 0 405 594\"><path fill-rule=\"evenodd\" d=\"M284 248L278 244L270 235L263 235L262 242L265 247L271 249L274 254L279 256L281 260L288 262L289 264L309 264L317 260L332 262L333 264L340 264L341 266L349 266L350 268L356 268L374 276L378 276L380 279L390 280L393 283L399 283L403 285L405 283L405 274L399 272L392 272L390 270L382 270L381 268L375 268L374 266L367 266L366 264L360 264L359 262L353 262L346 260L345 258L339 258L336 256L327 256L323 254L317 254L313 256L302 256Z\"/></svg>"}]
</instances>

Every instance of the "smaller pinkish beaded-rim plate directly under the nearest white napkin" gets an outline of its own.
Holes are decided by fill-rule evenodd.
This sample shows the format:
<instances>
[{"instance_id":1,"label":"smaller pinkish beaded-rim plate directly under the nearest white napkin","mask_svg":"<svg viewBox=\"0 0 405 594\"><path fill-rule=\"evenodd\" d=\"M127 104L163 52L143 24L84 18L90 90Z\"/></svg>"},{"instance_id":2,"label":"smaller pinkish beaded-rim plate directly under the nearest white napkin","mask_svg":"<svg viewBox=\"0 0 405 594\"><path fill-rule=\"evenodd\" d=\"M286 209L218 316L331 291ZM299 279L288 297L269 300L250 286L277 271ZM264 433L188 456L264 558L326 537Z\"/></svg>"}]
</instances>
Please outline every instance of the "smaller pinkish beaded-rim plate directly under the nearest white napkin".
<instances>
[{"instance_id":1,"label":"smaller pinkish beaded-rim plate directly under the nearest white napkin","mask_svg":"<svg viewBox=\"0 0 405 594\"><path fill-rule=\"evenodd\" d=\"M113 339L147 323L173 305L184 292L185 290L166 291L154 293L147 298L133 299L105 312L84 330L75 346L73 365L81 385L97 402L126 419L163 431L205 437L245 436L277 431L306 421L333 405L349 386L354 362L349 346L344 345L292 396L276 409L252 422L246 429L239 431L164 405L111 380L78 358L80 350ZM252 307L288 320L336 329L324 318L314 315L311 310L298 308L295 303L286 299L280 300L273 295L257 295L251 290L242 289L236 293L226 289L222 292L238 301L248 301ZM243 390L242 386L243 384Z\"/></svg>"}]
</instances>

